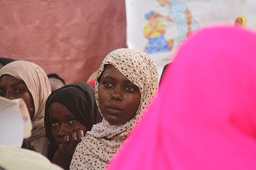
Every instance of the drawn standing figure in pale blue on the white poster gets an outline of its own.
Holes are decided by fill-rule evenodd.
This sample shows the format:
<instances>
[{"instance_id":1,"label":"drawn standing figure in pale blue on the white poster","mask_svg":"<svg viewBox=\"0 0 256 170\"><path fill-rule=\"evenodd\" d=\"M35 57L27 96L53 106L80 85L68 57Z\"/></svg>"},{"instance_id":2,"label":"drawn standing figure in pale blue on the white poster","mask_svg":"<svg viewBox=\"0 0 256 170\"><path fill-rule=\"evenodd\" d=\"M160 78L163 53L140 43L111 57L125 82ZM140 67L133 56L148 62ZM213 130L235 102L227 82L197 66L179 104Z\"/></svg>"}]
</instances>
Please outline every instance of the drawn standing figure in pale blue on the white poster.
<instances>
[{"instance_id":1,"label":"drawn standing figure in pale blue on the white poster","mask_svg":"<svg viewBox=\"0 0 256 170\"><path fill-rule=\"evenodd\" d=\"M156 0L160 6L168 8L169 18L177 23L178 44L199 28L187 5L180 0Z\"/></svg>"}]
</instances>

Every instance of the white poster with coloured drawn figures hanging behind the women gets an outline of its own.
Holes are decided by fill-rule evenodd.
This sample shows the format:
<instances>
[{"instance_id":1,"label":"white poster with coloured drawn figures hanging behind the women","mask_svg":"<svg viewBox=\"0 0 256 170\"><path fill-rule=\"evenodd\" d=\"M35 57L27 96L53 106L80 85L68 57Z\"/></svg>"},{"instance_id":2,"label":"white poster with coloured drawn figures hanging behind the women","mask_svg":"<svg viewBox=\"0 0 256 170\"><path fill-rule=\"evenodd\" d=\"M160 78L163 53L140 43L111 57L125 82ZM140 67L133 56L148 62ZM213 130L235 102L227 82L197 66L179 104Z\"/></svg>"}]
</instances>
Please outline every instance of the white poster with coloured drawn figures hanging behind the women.
<instances>
[{"instance_id":1,"label":"white poster with coloured drawn figures hanging behind the women","mask_svg":"<svg viewBox=\"0 0 256 170\"><path fill-rule=\"evenodd\" d=\"M127 46L146 52L158 77L180 44L199 29L229 24L256 29L255 0L126 0Z\"/></svg>"}]
</instances>

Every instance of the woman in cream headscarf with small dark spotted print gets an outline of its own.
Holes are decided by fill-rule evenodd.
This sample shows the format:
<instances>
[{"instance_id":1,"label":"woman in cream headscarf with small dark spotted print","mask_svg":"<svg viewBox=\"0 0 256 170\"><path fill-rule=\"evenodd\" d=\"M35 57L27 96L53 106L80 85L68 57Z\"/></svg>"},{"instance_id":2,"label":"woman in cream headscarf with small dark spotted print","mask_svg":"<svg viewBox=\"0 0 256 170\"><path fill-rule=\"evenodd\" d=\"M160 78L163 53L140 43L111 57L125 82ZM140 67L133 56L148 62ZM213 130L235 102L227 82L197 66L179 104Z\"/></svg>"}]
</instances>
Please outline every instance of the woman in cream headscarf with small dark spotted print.
<instances>
[{"instance_id":1,"label":"woman in cream headscarf with small dark spotted print","mask_svg":"<svg viewBox=\"0 0 256 170\"><path fill-rule=\"evenodd\" d=\"M101 123L77 145L70 169L105 169L157 92L157 69L146 53L117 49L103 60L95 87Z\"/></svg>"}]
</instances>

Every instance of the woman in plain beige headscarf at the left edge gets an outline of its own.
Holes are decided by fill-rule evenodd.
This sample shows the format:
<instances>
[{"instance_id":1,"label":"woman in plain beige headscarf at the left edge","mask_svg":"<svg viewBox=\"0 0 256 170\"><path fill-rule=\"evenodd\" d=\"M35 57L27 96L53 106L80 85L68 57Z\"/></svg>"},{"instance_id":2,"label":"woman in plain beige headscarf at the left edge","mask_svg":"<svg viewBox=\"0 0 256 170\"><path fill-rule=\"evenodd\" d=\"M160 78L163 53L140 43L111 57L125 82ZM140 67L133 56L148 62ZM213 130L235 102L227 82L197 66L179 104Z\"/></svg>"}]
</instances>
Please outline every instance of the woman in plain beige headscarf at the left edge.
<instances>
[{"instance_id":1,"label":"woman in plain beige headscarf at the left edge","mask_svg":"<svg viewBox=\"0 0 256 170\"><path fill-rule=\"evenodd\" d=\"M0 70L0 96L22 98L33 125L31 137L23 141L22 148L47 155L47 138L44 129L44 107L51 87L47 75L37 64L14 61Z\"/></svg>"}]
</instances>

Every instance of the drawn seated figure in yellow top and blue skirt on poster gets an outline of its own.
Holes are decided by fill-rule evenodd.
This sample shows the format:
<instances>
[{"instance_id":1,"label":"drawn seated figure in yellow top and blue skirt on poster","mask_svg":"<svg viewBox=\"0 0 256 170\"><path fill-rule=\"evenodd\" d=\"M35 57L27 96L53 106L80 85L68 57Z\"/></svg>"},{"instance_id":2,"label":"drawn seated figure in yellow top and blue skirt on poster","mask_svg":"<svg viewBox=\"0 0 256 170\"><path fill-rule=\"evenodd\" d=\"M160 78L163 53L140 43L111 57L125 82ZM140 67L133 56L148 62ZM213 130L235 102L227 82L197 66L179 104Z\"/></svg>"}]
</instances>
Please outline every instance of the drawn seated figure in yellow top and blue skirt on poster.
<instances>
[{"instance_id":1,"label":"drawn seated figure in yellow top and blue skirt on poster","mask_svg":"<svg viewBox=\"0 0 256 170\"><path fill-rule=\"evenodd\" d=\"M155 11L150 11L145 14L146 23L143 31L144 37L148 39L144 51L147 54L163 53L168 52L172 49L173 40L166 40L165 35L165 24L159 20L162 18Z\"/></svg>"}]
</instances>

